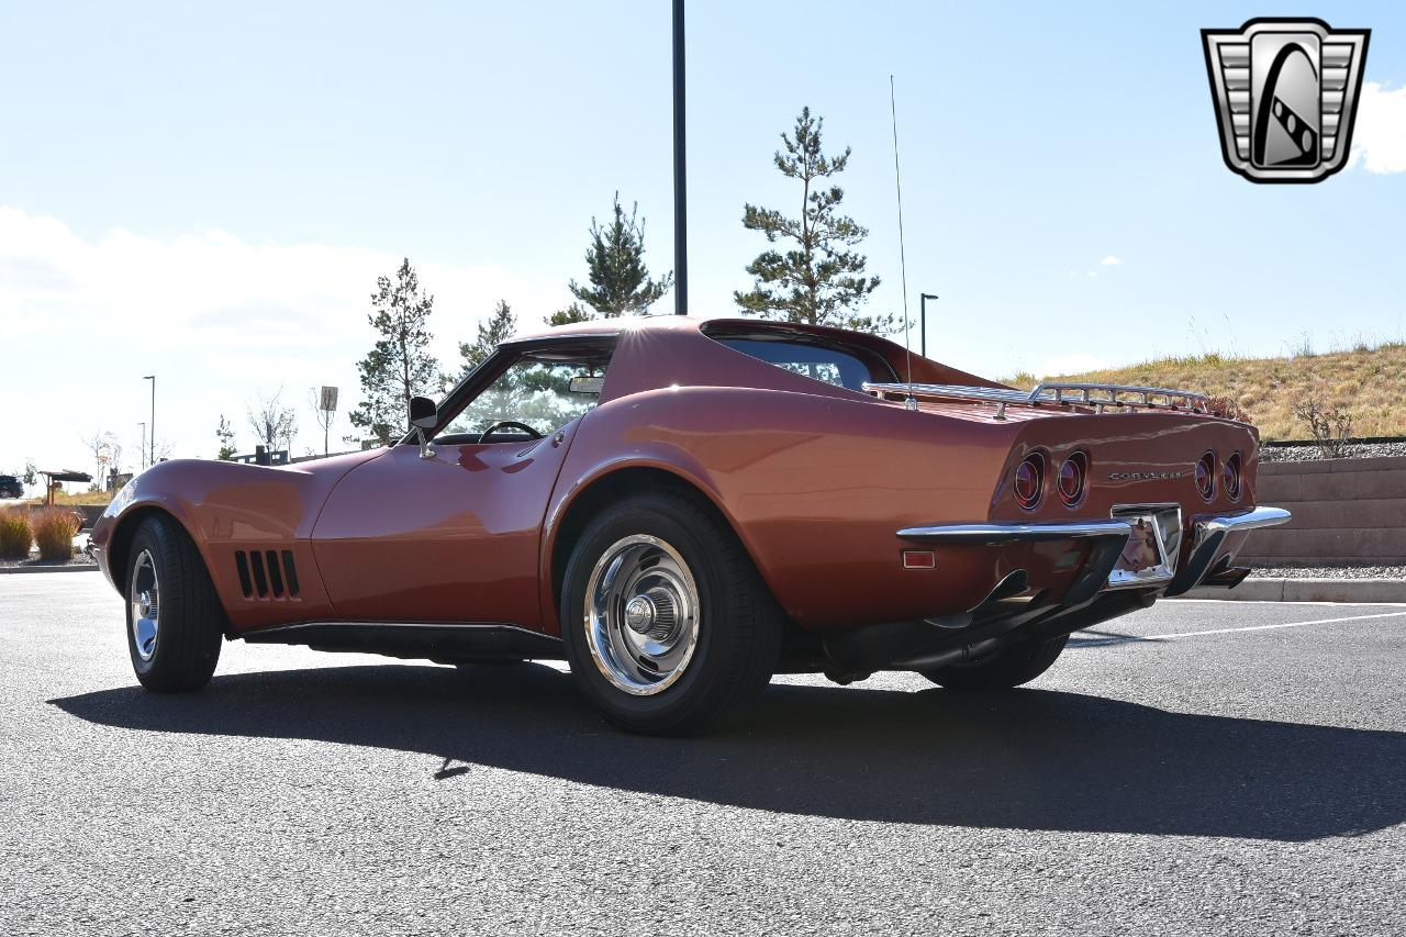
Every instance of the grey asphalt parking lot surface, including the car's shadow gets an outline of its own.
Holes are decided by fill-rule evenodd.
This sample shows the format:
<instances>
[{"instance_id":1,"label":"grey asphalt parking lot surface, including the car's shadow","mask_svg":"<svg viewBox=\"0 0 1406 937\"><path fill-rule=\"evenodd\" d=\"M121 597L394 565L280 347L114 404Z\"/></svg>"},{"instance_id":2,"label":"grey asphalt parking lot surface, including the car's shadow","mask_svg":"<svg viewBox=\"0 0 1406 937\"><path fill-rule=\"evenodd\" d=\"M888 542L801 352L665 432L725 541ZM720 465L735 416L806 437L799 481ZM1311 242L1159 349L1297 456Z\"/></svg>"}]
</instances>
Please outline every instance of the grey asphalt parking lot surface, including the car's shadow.
<instances>
[{"instance_id":1,"label":"grey asphalt parking lot surface, including the car's shadow","mask_svg":"<svg viewBox=\"0 0 1406 937\"><path fill-rule=\"evenodd\" d=\"M0 620L6 934L1406 931L1406 606L1163 602L1026 689L786 678L700 740L546 665L233 643L145 694L96 573Z\"/></svg>"}]
</instances>

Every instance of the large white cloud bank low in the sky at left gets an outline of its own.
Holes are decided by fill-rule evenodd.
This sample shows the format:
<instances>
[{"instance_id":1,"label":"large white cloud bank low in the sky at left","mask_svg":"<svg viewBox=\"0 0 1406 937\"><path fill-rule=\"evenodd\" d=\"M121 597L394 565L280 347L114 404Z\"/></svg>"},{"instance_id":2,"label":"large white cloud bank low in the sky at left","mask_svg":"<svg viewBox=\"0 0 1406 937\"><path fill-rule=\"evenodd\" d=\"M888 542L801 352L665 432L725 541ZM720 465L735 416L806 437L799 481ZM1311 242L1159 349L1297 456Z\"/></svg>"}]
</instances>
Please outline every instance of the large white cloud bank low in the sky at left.
<instances>
[{"instance_id":1,"label":"large white cloud bank low in the sky at left","mask_svg":"<svg viewBox=\"0 0 1406 937\"><path fill-rule=\"evenodd\" d=\"M91 471L79 438L97 429L135 453L138 422L149 419L141 377L153 371L157 435L176 456L212 454L221 414L240 452L252 450L246 401L280 385L298 411L297 453L322 446L308 390L342 387L337 445L359 400L356 362L373 342L370 294L399 262L366 248L249 243L222 231L162 239L114 229L86 239L56 218L0 207L0 345L11 352L0 390L25 402L0 415L0 471L24 459ZM564 287L496 266L416 269L434 294L434 352L446 364L499 298L527 328L565 300Z\"/></svg>"}]
</instances>

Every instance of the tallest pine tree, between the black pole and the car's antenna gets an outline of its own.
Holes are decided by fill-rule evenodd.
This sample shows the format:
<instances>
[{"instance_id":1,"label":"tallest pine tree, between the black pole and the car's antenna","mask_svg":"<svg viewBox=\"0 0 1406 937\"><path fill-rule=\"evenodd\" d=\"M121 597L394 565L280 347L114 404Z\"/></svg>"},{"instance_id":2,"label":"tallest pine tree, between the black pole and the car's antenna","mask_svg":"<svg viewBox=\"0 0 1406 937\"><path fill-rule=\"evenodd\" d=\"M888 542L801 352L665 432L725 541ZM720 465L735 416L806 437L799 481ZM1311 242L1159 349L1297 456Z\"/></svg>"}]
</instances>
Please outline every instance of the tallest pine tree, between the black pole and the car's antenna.
<instances>
[{"instance_id":1,"label":"tallest pine tree, between the black pole and the car's antenna","mask_svg":"<svg viewBox=\"0 0 1406 937\"><path fill-rule=\"evenodd\" d=\"M761 231L768 243L794 242L785 255L762 252L747 272L756 277L749 293L734 293L744 312L786 322L834 325L862 332L891 332L891 315L859 315L858 308L879 286L879 277L865 277L865 256L853 250L869 234L853 218L838 214L845 197L839 186L827 184L845 170L849 148L827 156L820 145L824 118L808 107L796 118L794 136L782 134L785 152L776 151L776 169L801 183L800 218L779 211L744 205L742 227Z\"/></svg>"}]
</instances>

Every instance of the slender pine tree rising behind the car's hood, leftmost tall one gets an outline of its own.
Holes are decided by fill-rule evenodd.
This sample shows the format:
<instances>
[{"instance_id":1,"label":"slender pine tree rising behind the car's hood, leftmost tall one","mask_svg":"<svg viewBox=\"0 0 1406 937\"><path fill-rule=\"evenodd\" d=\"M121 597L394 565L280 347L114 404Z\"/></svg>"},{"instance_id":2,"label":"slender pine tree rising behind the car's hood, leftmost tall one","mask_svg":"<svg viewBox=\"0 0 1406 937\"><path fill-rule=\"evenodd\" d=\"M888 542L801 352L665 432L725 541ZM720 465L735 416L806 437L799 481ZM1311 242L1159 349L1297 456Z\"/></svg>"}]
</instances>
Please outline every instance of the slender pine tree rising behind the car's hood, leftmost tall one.
<instances>
[{"instance_id":1,"label":"slender pine tree rising behind the car's hood, leftmost tall one","mask_svg":"<svg viewBox=\"0 0 1406 937\"><path fill-rule=\"evenodd\" d=\"M439 384L439 362L429 353L434 297L420 291L409 257L395 280L377 279L367 322L380 333L357 363L361 373L361 405L349 415L352 425L368 432L382 446L409 431L411 398Z\"/></svg>"}]
</instances>

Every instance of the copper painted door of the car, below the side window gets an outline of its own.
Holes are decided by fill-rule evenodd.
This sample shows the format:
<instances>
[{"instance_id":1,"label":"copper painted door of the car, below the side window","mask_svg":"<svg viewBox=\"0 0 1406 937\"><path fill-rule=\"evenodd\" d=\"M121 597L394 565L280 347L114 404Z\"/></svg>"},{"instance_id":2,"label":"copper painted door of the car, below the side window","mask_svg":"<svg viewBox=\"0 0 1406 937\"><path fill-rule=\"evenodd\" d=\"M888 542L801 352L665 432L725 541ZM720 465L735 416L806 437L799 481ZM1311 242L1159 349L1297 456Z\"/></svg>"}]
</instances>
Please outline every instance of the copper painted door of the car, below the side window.
<instances>
[{"instance_id":1,"label":"copper painted door of the car, below the side window","mask_svg":"<svg viewBox=\"0 0 1406 937\"><path fill-rule=\"evenodd\" d=\"M314 554L339 618L541 629L543 515L582 418L534 442L392 446L322 509Z\"/></svg>"}]
</instances>

